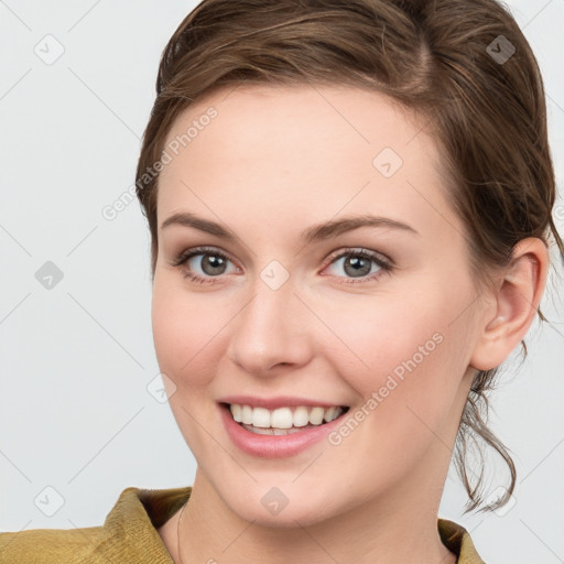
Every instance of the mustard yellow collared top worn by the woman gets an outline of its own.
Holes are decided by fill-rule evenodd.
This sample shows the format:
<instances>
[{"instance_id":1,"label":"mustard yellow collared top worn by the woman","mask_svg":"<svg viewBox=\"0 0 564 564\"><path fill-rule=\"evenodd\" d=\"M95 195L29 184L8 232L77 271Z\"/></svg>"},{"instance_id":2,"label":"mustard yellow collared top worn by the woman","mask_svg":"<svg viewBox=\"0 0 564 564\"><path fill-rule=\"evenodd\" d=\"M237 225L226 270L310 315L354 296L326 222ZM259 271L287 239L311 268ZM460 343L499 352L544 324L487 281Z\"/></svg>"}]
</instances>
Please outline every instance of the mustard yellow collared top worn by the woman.
<instances>
[{"instance_id":1,"label":"mustard yellow collared top worn by the woman","mask_svg":"<svg viewBox=\"0 0 564 564\"><path fill-rule=\"evenodd\" d=\"M0 533L2 564L173 564L159 529L188 500L192 487L126 488L104 525ZM458 564L485 564L463 527L438 519L443 544Z\"/></svg>"}]
</instances>

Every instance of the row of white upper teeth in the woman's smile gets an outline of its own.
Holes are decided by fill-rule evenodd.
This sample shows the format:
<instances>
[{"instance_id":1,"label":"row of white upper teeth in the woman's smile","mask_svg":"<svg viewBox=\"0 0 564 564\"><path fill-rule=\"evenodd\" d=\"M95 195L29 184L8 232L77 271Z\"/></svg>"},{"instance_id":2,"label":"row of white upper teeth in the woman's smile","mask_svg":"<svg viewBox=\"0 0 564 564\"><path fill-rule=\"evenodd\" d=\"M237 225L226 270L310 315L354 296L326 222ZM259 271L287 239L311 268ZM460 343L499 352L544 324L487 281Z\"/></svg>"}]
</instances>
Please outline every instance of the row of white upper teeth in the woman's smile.
<instances>
[{"instance_id":1,"label":"row of white upper teeth in the woman's smile","mask_svg":"<svg viewBox=\"0 0 564 564\"><path fill-rule=\"evenodd\" d=\"M234 420L245 425L254 427L285 430L292 427L304 427L306 425L321 425L325 420L327 423L337 419L343 413L343 408L279 408L267 410L265 408L252 408L251 405L240 405L232 403L229 406Z\"/></svg>"}]
</instances>

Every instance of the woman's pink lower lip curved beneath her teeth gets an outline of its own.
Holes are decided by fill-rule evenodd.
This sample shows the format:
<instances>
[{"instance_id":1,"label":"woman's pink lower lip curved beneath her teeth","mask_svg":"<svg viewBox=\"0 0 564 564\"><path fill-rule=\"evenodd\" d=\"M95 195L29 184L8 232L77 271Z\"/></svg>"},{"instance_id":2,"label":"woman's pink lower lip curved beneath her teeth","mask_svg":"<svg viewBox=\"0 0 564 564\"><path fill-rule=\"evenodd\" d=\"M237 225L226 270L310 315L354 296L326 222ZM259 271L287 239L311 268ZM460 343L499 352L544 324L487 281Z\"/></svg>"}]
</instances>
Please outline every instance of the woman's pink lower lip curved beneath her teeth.
<instances>
[{"instance_id":1,"label":"woman's pink lower lip curved beneath her teeth","mask_svg":"<svg viewBox=\"0 0 564 564\"><path fill-rule=\"evenodd\" d=\"M234 420L229 406L220 404L219 411L227 434L234 444L247 454L263 458L283 458L305 451L308 446L322 441L332 431L338 427L343 416L348 413L348 411L341 413L329 423L307 427L297 433L292 433L291 435L259 435L239 425L239 423Z\"/></svg>"}]
</instances>

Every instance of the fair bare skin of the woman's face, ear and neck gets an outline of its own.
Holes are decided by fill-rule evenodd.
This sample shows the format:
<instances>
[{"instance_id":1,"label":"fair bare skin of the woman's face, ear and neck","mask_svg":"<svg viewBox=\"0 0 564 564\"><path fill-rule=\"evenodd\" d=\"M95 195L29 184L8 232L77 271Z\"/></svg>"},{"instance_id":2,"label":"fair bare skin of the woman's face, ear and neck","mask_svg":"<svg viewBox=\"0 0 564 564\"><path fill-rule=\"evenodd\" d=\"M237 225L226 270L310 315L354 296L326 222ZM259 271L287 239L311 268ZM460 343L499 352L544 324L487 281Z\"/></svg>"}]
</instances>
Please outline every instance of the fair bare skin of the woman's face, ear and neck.
<instances>
[{"instance_id":1,"label":"fair bare skin of the woman's face, ear and neck","mask_svg":"<svg viewBox=\"0 0 564 564\"><path fill-rule=\"evenodd\" d=\"M501 364L527 333L545 284L545 246L521 241L491 291L478 291L441 152L423 121L382 95L224 89L180 116L169 141L210 106L217 117L165 166L158 198L159 225L191 212L238 237L177 225L159 232L155 350L198 465L181 522L182 562L455 562L436 518L459 417L476 370ZM372 164L384 148L403 161L390 177ZM313 224L367 213L417 235L362 227L299 240ZM214 249L171 265L203 245L228 256L224 271L203 265ZM332 258L346 248L349 256ZM388 257L393 269L368 261L355 278L346 261L359 249ZM290 274L278 290L261 279L272 260ZM212 283L184 278L188 271ZM302 395L354 414L433 335L441 343L338 446L253 457L219 419L217 400L236 393ZM278 514L261 503L272 487L289 499ZM177 519L159 531L175 562Z\"/></svg>"}]
</instances>

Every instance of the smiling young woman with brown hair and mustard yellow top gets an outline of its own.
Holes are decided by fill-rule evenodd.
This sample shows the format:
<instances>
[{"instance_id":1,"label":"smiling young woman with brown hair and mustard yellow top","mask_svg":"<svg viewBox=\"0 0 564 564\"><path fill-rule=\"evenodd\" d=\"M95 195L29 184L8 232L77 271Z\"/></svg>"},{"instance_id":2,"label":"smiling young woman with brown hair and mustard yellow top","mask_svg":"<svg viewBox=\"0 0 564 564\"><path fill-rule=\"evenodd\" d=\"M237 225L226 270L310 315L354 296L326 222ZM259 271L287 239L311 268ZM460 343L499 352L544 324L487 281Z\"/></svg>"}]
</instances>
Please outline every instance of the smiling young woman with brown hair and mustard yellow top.
<instances>
[{"instance_id":1,"label":"smiling young woman with brown hair and mustard yellow top","mask_svg":"<svg viewBox=\"0 0 564 564\"><path fill-rule=\"evenodd\" d=\"M193 487L2 562L481 563L437 520L511 457L485 426L544 292L555 185L534 56L494 0L210 0L163 53L137 187ZM501 455L491 500L466 445ZM487 503L485 503L487 501Z\"/></svg>"}]
</instances>

